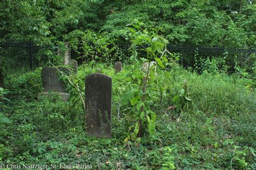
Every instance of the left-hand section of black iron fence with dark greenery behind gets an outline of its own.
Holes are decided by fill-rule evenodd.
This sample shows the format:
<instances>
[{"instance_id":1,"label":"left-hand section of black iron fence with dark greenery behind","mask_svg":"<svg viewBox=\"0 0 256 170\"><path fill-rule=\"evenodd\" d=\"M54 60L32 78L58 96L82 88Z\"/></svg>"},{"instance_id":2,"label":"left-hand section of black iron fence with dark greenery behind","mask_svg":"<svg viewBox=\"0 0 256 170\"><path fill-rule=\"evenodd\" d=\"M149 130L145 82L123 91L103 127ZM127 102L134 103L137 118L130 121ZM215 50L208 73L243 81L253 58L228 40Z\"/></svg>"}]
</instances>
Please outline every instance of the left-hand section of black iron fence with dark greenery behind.
<instances>
[{"instance_id":1,"label":"left-hand section of black iron fence with dark greenery behind","mask_svg":"<svg viewBox=\"0 0 256 170\"><path fill-rule=\"evenodd\" d=\"M48 61L45 50L46 47L37 46L32 41L0 39L4 74L18 76L44 66Z\"/></svg>"}]
</instances>

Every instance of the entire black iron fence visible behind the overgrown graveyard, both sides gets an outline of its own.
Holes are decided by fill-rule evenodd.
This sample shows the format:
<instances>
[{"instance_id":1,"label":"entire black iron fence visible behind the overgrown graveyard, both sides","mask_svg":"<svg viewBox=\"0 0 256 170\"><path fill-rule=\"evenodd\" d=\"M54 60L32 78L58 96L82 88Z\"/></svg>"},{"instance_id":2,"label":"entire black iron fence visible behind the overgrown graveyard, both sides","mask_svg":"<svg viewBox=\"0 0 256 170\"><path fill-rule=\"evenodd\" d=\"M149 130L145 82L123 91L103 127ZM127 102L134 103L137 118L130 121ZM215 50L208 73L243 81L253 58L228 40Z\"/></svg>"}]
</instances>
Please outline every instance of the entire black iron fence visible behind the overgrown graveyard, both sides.
<instances>
[{"instance_id":1,"label":"entire black iron fence visible behind the overgrown graveyard, both sides","mask_svg":"<svg viewBox=\"0 0 256 170\"><path fill-rule=\"evenodd\" d=\"M42 67L48 62L45 51L49 47L41 47L31 41L0 39L0 65L5 75L22 75ZM129 46L122 48L126 57L130 55ZM225 59L225 64L233 72L235 66L253 68L256 60L256 48L219 48L219 47L178 47L168 46L167 49L179 55L181 65L194 68L200 59ZM0 66L1 68L1 66ZM250 70L249 70L250 71Z\"/></svg>"}]
</instances>

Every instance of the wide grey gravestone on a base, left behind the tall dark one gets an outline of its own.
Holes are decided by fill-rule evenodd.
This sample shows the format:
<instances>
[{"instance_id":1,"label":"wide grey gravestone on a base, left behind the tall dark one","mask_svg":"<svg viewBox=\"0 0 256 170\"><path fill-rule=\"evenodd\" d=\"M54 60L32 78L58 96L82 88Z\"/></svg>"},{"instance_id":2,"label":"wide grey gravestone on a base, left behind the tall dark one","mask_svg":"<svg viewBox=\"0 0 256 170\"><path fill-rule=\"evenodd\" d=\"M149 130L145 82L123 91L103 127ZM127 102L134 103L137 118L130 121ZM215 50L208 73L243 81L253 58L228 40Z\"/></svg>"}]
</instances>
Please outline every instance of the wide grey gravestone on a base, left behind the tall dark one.
<instances>
[{"instance_id":1,"label":"wide grey gravestone on a base, left behind the tall dark one","mask_svg":"<svg viewBox=\"0 0 256 170\"><path fill-rule=\"evenodd\" d=\"M58 68L65 75L70 74L70 69L67 68ZM64 83L59 79L59 71L54 67L44 67L42 69L42 81L44 92L43 95L48 95L50 91L58 92L63 101L67 101L69 99L69 94L66 93L64 88ZM39 95L42 95L40 93Z\"/></svg>"}]
</instances>

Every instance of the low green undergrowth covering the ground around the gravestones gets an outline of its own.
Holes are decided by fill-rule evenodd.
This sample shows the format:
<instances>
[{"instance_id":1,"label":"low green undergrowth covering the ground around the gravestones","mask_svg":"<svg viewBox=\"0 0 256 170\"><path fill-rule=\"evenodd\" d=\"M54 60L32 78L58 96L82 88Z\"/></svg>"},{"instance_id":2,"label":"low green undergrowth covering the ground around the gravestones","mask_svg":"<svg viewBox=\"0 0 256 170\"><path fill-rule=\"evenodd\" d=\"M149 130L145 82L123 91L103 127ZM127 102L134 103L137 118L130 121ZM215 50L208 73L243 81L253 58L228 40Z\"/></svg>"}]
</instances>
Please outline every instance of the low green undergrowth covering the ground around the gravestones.
<instances>
[{"instance_id":1,"label":"low green undergrowth covering the ground around the gravestones","mask_svg":"<svg viewBox=\"0 0 256 170\"><path fill-rule=\"evenodd\" d=\"M62 102L55 93L37 99L42 91L40 69L8 79L11 93L5 96L11 102L2 104L1 112L11 123L0 122L0 163L86 164L102 169L256 167L255 89L248 88L250 80L224 73L199 75L178 65L160 70L156 79L163 79L163 84L149 83L147 88L146 104L157 115L154 134L145 129L139 144L127 141L138 117L132 116L132 102L122 101L127 91L142 86L142 77L134 76L142 73L141 67L134 63L114 73L112 66L93 63L79 66L77 75L69 77L83 91L87 74L112 77L112 139L86 136L82 103L69 83L71 100ZM191 101L180 111L171 107L177 105L173 98L185 80Z\"/></svg>"}]
</instances>

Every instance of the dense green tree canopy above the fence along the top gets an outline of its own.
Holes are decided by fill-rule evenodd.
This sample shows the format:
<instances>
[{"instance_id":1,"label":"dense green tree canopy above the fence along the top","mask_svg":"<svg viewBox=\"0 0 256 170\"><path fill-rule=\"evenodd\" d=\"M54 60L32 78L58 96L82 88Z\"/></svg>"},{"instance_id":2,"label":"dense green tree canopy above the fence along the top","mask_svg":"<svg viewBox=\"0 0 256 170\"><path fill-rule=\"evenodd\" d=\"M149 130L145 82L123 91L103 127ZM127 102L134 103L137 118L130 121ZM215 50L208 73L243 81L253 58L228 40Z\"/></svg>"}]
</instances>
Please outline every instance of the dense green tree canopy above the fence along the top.
<instances>
[{"instance_id":1,"label":"dense green tree canopy above the fence along the top","mask_svg":"<svg viewBox=\"0 0 256 170\"><path fill-rule=\"evenodd\" d=\"M248 48L256 43L256 8L246 0L5 0L0 17L2 38L38 44L63 41L75 30L105 34L122 44L134 19L173 45Z\"/></svg>"}]
</instances>

